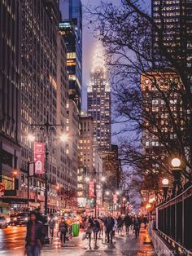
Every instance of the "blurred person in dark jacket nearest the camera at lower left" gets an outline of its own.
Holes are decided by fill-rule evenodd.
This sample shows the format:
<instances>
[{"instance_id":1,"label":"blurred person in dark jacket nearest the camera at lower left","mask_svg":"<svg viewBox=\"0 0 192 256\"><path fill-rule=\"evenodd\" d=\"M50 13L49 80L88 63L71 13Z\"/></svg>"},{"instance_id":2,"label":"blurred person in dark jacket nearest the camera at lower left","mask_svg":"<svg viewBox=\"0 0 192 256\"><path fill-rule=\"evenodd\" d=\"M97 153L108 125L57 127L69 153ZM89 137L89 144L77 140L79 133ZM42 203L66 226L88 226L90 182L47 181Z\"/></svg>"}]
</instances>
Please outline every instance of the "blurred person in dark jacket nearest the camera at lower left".
<instances>
[{"instance_id":1,"label":"blurred person in dark jacket nearest the camera at lower left","mask_svg":"<svg viewBox=\"0 0 192 256\"><path fill-rule=\"evenodd\" d=\"M40 256L44 236L44 227L43 224L37 220L37 213L30 213L25 237L25 252L28 256Z\"/></svg>"}]
</instances>

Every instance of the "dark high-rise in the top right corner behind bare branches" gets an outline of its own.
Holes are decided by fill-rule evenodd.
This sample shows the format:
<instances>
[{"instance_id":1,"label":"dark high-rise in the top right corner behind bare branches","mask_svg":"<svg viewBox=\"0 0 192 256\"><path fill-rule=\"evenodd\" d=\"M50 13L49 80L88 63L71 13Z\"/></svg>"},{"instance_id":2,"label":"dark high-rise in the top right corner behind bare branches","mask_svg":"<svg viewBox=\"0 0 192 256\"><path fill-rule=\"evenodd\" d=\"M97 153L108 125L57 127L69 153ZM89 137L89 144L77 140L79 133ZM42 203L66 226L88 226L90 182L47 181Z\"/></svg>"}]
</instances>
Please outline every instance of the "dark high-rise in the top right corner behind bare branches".
<instances>
[{"instance_id":1,"label":"dark high-rise in the top right corner behind bare branches","mask_svg":"<svg viewBox=\"0 0 192 256\"><path fill-rule=\"evenodd\" d=\"M152 19L163 31L164 46L173 58L191 68L192 2L191 0L152 1ZM153 46L158 51L158 33L153 31Z\"/></svg>"}]
</instances>

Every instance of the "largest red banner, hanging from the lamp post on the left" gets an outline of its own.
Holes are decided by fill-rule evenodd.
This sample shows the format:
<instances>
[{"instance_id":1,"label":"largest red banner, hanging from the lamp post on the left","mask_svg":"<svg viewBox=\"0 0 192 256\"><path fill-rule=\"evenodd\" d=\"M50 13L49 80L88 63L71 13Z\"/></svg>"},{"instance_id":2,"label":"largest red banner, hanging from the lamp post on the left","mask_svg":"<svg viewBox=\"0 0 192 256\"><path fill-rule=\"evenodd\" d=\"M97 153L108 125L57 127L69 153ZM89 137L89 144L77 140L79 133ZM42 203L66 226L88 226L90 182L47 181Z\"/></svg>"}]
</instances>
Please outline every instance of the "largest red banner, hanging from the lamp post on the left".
<instances>
[{"instance_id":1,"label":"largest red banner, hanging from the lamp post on the left","mask_svg":"<svg viewBox=\"0 0 192 256\"><path fill-rule=\"evenodd\" d=\"M35 174L44 174L45 143L34 143Z\"/></svg>"}]
</instances>

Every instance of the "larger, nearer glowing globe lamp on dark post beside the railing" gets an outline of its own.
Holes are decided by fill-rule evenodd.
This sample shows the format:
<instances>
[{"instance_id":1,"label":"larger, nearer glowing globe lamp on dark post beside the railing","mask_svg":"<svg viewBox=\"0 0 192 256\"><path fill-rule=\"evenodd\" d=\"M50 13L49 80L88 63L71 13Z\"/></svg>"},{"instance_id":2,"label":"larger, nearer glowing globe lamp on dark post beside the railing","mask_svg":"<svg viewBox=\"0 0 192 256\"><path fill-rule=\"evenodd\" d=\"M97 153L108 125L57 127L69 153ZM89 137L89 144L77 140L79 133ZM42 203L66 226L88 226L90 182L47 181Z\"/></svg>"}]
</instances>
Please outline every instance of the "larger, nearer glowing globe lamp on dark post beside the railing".
<instances>
[{"instance_id":1,"label":"larger, nearer glowing globe lamp on dark post beside the railing","mask_svg":"<svg viewBox=\"0 0 192 256\"><path fill-rule=\"evenodd\" d=\"M177 192L181 192L182 183L181 183L181 160L177 157L173 158L171 161L171 170L174 176L174 181L172 183L172 196L176 195Z\"/></svg>"}]
</instances>

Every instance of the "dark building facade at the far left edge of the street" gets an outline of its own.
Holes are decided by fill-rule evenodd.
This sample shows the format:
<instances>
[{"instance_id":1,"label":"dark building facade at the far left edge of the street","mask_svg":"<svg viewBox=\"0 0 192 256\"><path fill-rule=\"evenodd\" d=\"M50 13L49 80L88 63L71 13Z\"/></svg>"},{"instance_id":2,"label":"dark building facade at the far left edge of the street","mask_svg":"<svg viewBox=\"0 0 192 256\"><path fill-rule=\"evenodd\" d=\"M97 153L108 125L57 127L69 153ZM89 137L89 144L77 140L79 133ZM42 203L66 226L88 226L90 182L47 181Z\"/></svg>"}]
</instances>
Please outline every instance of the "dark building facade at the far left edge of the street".
<instances>
[{"instance_id":1,"label":"dark building facade at the far left edge of the street","mask_svg":"<svg viewBox=\"0 0 192 256\"><path fill-rule=\"evenodd\" d=\"M20 11L19 0L0 2L0 182L5 186L0 214L19 188Z\"/></svg>"}]
</instances>

